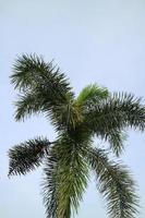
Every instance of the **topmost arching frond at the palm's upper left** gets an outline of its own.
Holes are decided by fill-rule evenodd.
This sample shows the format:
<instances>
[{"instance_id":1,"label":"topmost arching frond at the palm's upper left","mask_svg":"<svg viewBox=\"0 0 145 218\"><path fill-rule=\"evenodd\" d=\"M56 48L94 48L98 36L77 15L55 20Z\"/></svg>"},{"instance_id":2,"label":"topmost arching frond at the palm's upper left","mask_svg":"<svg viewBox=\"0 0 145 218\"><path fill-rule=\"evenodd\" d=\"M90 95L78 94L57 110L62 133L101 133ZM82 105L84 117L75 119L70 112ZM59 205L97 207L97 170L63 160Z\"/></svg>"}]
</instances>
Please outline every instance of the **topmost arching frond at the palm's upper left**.
<instances>
[{"instance_id":1,"label":"topmost arching frond at the palm's upper left","mask_svg":"<svg viewBox=\"0 0 145 218\"><path fill-rule=\"evenodd\" d=\"M11 82L20 90L32 89L34 87L47 88L58 95L71 92L70 83L60 69L46 63L43 57L36 55L22 55L13 66Z\"/></svg>"}]
</instances>

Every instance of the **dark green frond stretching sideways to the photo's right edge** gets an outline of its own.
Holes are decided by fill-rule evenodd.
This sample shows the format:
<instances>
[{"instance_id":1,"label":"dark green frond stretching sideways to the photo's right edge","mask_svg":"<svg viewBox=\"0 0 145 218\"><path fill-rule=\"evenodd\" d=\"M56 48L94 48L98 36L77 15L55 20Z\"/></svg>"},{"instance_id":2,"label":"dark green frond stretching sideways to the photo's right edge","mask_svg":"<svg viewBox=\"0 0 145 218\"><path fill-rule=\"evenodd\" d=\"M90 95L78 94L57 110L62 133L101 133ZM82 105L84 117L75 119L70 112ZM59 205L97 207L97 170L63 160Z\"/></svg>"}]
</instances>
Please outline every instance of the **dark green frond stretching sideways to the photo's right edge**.
<instances>
[{"instance_id":1,"label":"dark green frond stretching sideways to the photo's right edge","mask_svg":"<svg viewBox=\"0 0 145 218\"><path fill-rule=\"evenodd\" d=\"M93 111L98 121L104 121L102 123L108 123L112 128L130 126L141 131L145 129L145 107L142 99L135 98L132 94L113 94L99 105L95 105Z\"/></svg>"}]
</instances>

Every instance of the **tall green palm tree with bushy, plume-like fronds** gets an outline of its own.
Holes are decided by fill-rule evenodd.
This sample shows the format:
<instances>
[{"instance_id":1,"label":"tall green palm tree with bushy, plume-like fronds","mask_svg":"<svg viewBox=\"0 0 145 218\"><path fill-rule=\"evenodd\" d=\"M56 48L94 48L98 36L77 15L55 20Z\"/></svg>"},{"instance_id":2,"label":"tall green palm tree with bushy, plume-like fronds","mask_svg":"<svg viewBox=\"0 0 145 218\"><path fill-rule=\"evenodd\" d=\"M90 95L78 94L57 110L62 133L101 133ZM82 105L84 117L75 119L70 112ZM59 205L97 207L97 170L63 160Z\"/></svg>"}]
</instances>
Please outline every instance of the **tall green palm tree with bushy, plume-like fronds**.
<instances>
[{"instance_id":1,"label":"tall green palm tree with bushy, plume-like fronds","mask_svg":"<svg viewBox=\"0 0 145 218\"><path fill-rule=\"evenodd\" d=\"M57 138L37 137L9 150L9 175L26 174L45 164L43 195L47 218L70 218L77 213L90 173L112 218L133 218L138 198L128 168L109 160L124 149L126 129L145 130L145 107L132 94L109 93L88 85L77 97L60 69L36 55L17 58L11 76L20 90L15 120L44 113ZM95 145L97 136L106 149ZM117 158L116 158L117 159Z\"/></svg>"}]
</instances>

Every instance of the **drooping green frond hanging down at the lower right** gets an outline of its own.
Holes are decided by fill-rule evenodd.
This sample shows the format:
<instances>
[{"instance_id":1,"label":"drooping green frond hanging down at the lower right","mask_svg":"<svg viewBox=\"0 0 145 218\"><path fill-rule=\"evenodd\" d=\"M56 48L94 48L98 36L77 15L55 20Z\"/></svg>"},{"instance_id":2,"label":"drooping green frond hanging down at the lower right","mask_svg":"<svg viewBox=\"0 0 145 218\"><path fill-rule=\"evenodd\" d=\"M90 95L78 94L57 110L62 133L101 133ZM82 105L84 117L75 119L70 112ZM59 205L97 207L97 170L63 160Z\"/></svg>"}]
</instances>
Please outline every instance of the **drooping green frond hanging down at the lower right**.
<instances>
[{"instance_id":1,"label":"drooping green frond hanging down at the lower right","mask_svg":"<svg viewBox=\"0 0 145 218\"><path fill-rule=\"evenodd\" d=\"M133 218L137 213L138 199L128 169L108 160L101 149L89 149L87 160L96 172L97 185L107 201L110 217Z\"/></svg>"}]
</instances>

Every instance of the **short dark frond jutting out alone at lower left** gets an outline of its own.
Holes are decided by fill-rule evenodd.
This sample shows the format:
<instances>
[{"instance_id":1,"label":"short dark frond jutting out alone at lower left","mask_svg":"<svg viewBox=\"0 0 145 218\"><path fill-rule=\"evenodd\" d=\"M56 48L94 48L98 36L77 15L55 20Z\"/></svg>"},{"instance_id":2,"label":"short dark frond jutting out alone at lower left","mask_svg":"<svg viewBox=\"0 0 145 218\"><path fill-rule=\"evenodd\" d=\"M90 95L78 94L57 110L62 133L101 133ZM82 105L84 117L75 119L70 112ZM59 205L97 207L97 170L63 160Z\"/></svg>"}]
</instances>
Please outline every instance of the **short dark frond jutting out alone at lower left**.
<instances>
[{"instance_id":1,"label":"short dark frond jutting out alone at lower left","mask_svg":"<svg viewBox=\"0 0 145 218\"><path fill-rule=\"evenodd\" d=\"M14 146L9 150L9 175L25 174L39 167L49 148L47 138L37 137Z\"/></svg>"}]
</instances>

